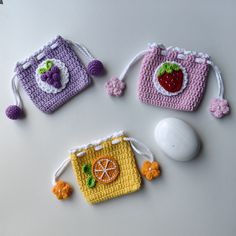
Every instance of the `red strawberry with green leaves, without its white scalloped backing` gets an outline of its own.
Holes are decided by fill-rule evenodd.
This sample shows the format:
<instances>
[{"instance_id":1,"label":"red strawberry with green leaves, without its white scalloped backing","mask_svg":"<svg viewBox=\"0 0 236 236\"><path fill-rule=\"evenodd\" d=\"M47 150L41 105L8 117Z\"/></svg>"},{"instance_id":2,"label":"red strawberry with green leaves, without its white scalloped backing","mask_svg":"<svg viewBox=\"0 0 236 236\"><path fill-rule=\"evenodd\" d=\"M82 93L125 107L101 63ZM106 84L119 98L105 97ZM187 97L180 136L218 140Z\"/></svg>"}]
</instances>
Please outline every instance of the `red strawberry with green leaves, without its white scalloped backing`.
<instances>
[{"instance_id":1,"label":"red strawberry with green leaves, without its white scalloped backing","mask_svg":"<svg viewBox=\"0 0 236 236\"><path fill-rule=\"evenodd\" d=\"M160 86L170 93L177 93L183 87L184 73L176 63L163 63L156 76Z\"/></svg>"}]
</instances>

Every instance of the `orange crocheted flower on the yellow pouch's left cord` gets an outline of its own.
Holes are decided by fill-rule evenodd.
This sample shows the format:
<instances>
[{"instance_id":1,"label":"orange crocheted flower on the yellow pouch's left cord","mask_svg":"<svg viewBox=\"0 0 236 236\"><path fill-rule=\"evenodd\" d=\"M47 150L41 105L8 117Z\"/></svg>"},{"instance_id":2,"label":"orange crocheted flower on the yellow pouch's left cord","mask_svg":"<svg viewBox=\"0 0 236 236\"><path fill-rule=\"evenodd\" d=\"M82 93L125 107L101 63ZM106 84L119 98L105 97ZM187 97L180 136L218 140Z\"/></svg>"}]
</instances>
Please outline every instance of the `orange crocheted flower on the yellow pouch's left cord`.
<instances>
[{"instance_id":1,"label":"orange crocheted flower on the yellow pouch's left cord","mask_svg":"<svg viewBox=\"0 0 236 236\"><path fill-rule=\"evenodd\" d=\"M57 183L53 186L52 192L59 200L64 200L69 198L72 194L72 187L68 183L62 180L58 180Z\"/></svg>"}]
</instances>

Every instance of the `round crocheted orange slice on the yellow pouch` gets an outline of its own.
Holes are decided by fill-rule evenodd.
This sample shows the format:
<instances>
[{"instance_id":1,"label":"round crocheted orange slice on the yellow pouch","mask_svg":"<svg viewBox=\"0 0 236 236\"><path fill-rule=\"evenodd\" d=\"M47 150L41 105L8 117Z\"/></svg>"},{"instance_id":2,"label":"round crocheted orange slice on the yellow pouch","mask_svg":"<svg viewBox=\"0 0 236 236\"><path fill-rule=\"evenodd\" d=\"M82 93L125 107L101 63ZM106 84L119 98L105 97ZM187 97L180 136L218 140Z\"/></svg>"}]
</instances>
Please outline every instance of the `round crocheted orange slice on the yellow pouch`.
<instances>
[{"instance_id":1,"label":"round crocheted orange slice on the yellow pouch","mask_svg":"<svg viewBox=\"0 0 236 236\"><path fill-rule=\"evenodd\" d=\"M119 165L114 158L98 157L92 165L94 178L102 184L113 182L120 173Z\"/></svg>"}]
</instances>

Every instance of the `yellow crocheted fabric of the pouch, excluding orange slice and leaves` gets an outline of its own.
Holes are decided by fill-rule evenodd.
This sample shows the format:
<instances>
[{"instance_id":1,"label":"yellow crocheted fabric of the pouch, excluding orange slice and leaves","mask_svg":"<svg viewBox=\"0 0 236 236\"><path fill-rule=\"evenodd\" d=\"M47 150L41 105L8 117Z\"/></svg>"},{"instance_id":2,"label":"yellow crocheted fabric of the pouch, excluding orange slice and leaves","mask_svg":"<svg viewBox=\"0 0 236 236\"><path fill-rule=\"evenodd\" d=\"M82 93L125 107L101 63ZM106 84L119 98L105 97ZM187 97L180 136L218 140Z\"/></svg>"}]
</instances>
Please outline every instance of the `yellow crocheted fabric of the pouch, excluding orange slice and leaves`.
<instances>
[{"instance_id":1,"label":"yellow crocheted fabric of the pouch, excluding orange slice and leaves","mask_svg":"<svg viewBox=\"0 0 236 236\"><path fill-rule=\"evenodd\" d=\"M80 186L80 190L89 203L98 203L107 199L115 198L127 193L137 191L141 186L141 177L136 166L135 157L128 141L124 141L125 136L110 138L102 142L103 148L95 151L94 146L86 149L81 149L72 153L71 163L74 174ZM120 140L117 144L112 144L113 139ZM86 154L77 157L78 152L85 152ZM102 184L96 182L94 188L89 188L86 185L87 176L82 172L84 164L92 163L93 160L100 156L110 156L114 158L118 164L120 173L116 180L109 184Z\"/></svg>"}]
</instances>

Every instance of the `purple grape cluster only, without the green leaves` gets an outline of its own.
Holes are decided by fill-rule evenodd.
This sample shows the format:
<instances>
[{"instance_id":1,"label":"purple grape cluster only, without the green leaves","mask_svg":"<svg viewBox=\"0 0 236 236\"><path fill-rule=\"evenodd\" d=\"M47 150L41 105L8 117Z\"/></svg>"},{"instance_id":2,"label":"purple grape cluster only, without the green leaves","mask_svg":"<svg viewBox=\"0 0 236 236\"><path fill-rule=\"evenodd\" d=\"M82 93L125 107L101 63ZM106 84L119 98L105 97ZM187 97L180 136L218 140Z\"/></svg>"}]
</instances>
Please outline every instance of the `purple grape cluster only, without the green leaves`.
<instances>
[{"instance_id":1,"label":"purple grape cluster only, without the green leaves","mask_svg":"<svg viewBox=\"0 0 236 236\"><path fill-rule=\"evenodd\" d=\"M49 71L41 75L41 80L53 86L56 89L62 87L60 69L57 66L53 66Z\"/></svg>"}]
</instances>

